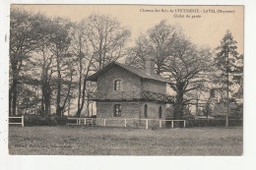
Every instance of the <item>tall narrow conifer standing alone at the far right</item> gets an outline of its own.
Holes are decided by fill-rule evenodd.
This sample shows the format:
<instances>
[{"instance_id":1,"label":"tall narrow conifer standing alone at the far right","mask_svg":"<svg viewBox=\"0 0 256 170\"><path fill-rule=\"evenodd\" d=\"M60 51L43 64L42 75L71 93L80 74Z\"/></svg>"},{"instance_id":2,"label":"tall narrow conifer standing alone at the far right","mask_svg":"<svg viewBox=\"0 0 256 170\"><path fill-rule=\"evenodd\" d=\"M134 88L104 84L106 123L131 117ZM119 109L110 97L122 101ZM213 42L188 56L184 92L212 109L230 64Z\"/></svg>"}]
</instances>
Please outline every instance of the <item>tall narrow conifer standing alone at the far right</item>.
<instances>
[{"instance_id":1,"label":"tall narrow conifer standing alone at the far right","mask_svg":"<svg viewBox=\"0 0 256 170\"><path fill-rule=\"evenodd\" d=\"M235 84L242 85L243 78L243 55L239 55L236 51L236 43L232 33L229 30L226 30L221 45L217 47L215 58L215 66L219 70L216 74L216 82L220 85L219 89L226 94L226 97L224 98L226 105L225 126L228 126L229 101L232 93L230 87Z\"/></svg>"}]
</instances>

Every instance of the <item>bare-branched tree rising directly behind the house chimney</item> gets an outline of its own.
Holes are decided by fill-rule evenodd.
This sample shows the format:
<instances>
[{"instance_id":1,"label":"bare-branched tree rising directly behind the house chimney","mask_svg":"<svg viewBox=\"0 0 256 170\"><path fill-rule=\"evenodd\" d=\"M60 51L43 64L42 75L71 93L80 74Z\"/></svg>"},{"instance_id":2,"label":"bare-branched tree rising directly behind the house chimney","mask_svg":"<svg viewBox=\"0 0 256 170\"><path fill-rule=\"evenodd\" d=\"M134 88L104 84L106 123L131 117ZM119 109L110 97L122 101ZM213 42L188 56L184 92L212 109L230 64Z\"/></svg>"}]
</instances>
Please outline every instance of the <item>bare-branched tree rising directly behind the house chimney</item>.
<instances>
[{"instance_id":1,"label":"bare-branched tree rising directly behind the house chimney","mask_svg":"<svg viewBox=\"0 0 256 170\"><path fill-rule=\"evenodd\" d=\"M126 63L144 68L146 59L153 58L156 63L156 73L159 75L163 73L173 31L174 27L167 25L166 21L161 21L154 28L148 29L148 33L142 34L136 40L136 45L129 49L130 56Z\"/></svg>"}]
</instances>

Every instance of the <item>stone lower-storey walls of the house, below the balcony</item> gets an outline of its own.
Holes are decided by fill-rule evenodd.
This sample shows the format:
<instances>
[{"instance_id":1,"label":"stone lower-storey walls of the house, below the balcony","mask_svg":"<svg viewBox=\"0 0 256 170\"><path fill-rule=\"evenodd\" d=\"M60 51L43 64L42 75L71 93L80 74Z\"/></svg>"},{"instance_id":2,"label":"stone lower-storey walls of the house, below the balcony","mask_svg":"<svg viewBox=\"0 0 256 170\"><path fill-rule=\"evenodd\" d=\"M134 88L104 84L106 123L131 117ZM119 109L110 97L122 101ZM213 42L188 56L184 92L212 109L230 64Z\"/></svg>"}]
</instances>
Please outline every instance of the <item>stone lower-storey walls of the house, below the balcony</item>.
<instances>
[{"instance_id":1,"label":"stone lower-storey walls of the house, below the balcony","mask_svg":"<svg viewBox=\"0 0 256 170\"><path fill-rule=\"evenodd\" d=\"M121 104L121 116L114 117L114 104ZM149 128L159 127L159 108L161 106L161 120L165 120L165 106L161 103L155 102L110 102L110 101L97 101L96 102L96 124L98 126L103 126L103 119L106 119L106 126L114 127L124 127L124 120L127 119L126 123L128 127L142 127L145 128L145 120L135 120L131 121L129 119L146 119L144 116L145 104L148 105L148 119L157 119L149 120ZM112 120L113 119L113 120ZM162 127L165 125L162 122Z\"/></svg>"}]
</instances>

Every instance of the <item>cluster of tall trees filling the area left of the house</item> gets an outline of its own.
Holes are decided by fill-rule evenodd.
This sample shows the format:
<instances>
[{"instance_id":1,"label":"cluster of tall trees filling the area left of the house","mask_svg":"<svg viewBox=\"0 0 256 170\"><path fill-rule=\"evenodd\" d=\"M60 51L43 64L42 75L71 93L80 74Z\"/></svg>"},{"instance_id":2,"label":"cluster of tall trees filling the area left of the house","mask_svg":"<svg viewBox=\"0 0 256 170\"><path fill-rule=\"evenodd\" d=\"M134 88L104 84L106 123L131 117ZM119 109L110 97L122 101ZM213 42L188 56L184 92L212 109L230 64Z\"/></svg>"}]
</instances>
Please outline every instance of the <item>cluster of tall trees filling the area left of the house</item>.
<instances>
[{"instance_id":1,"label":"cluster of tall trees filling the area left of the house","mask_svg":"<svg viewBox=\"0 0 256 170\"><path fill-rule=\"evenodd\" d=\"M19 8L11 10L10 27L9 108L14 115L17 105L20 109L22 103L29 103L25 107L36 107L35 114L47 117L54 108L62 116L76 98L80 116L95 90L88 76L123 57L130 36L127 28L108 16L92 15L72 23ZM25 89L36 103L20 95Z\"/></svg>"}]
</instances>

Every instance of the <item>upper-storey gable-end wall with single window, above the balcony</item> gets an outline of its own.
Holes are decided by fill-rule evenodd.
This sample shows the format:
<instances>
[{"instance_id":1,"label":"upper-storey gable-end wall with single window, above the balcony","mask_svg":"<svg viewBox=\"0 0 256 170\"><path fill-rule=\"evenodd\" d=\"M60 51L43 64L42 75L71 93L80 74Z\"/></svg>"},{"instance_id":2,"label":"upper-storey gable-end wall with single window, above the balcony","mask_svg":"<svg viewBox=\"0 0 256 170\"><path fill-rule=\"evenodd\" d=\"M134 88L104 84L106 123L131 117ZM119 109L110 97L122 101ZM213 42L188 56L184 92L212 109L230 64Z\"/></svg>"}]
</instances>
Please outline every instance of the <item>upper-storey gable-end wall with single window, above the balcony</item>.
<instances>
[{"instance_id":1,"label":"upper-storey gable-end wall with single window, above the balcony","mask_svg":"<svg viewBox=\"0 0 256 170\"><path fill-rule=\"evenodd\" d=\"M141 79L138 76L116 66L97 78L97 92L106 93L108 99L114 99L114 96L121 93L114 90L115 80L121 80L121 91L132 92L142 89Z\"/></svg>"}]
</instances>

